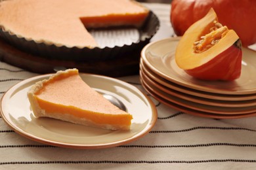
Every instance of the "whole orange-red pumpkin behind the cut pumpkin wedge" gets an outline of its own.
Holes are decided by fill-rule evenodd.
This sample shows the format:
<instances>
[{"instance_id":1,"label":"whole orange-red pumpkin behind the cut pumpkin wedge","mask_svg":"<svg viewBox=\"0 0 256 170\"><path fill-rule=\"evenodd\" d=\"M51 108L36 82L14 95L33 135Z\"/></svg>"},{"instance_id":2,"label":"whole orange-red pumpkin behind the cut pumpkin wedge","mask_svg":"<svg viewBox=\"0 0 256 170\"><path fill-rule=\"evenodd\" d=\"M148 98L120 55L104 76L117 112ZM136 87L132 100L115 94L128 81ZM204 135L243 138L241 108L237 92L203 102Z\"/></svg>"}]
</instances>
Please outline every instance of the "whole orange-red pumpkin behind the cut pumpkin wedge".
<instances>
[{"instance_id":1,"label":"whole orange-red pumpkin behind the cut pumpkin wedge","mask_svg":"<svg viewBox=\"0 0 256 170\"><path fill-rule=\"evenodd\" d=\"M221 24L236 31L243 46L256 42L255 0L173 0L170 19L176 35L183 35L190 25L205 16L211 8L215 10Z\"/></svg>"}]
</instances>

